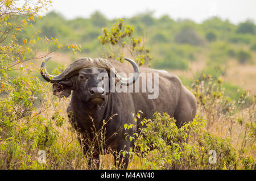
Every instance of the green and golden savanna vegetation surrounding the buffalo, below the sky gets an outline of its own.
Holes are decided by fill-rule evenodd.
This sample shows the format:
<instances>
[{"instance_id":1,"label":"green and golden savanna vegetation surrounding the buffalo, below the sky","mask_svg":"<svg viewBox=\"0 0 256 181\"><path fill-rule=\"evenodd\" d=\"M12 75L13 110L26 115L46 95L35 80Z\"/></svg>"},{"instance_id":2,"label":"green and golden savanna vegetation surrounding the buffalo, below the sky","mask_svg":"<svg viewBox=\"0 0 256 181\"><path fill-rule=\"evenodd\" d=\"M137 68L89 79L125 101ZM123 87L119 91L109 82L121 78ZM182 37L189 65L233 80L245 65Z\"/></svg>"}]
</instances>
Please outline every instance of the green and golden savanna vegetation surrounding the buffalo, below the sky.
<instances>
[{"instance_id":1,"label":"green and golden savanna vegetation surrounding the buffalo, below the sky","mask_svg":"<svg viewBox=\"0 0 256 181\"><path fill-rule=\"evenodd\" d=\"M109 20L100 12L88 19L67 20L56 12L41 17L49 6L46 0L36 6L0 0L0 169L92 169L86 161L95 146L102 151L100 169L118 169L111 154L103 155L104 129L82 154L65 113L70 99L53 96L40 76L47 56L51 74L83 56L133 58L140 66L175 73L196 96L191 123L177 128L174 119L156 112L142 122L142 134L127 136L137 137L136 148L123 153L130 154L128 169L255 169L253 21L213 17L197 24L151 13ZM134 113L134 121L141 114ZM209 160L210 150L216 160Z\"/></svg>"}]
</instances>

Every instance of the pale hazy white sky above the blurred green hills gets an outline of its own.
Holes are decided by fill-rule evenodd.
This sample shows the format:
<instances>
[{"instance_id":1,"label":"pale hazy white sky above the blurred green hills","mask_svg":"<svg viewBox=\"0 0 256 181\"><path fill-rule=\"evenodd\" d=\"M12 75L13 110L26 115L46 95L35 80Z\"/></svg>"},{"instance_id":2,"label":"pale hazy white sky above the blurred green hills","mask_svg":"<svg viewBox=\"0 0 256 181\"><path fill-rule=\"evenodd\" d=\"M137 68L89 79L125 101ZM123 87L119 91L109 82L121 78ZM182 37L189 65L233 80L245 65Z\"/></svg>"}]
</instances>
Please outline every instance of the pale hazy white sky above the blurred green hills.
<instances>
[{"instance_id":1,"label":"pale hazy white sky above the blurred green hills","mask_svg":"<svg viewBox=\"0 0 256 181\"><path fill-rule=\"evenodd\" d=\"M89 18L98 10L109 19L130 18L142 12L153 11L154 17L169 15L172 19L192 19L197 23L210 16L240 23L246 19L256 23L255 0L53 0L51 10L60 12L65 18Z\"/></svg>"}]
</instances>

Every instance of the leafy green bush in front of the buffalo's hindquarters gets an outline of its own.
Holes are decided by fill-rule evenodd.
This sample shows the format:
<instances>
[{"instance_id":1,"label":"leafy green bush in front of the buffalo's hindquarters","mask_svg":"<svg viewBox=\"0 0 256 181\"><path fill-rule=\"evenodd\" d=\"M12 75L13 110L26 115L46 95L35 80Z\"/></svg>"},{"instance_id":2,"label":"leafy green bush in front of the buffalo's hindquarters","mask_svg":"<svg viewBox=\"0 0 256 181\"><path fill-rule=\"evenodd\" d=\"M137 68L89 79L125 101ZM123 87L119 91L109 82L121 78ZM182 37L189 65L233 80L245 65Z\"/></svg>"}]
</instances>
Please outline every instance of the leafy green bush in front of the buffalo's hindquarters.
<instances>
[{"instance_id":1,"label":"leafy green bush in front of the buffalo's hindquarters","mask_svg":"<svg viewBox=\"0 0 256 181\"><path fill-rule=\"evenodd\" d=\"M205 125L201 117L177 128L173 118L156 112L143 123L146 126L135 141L137 154L147 158L142 169L236 169L237 154L231 142L208 132L201 134ZM209 163L210 150L217 153L214 164Z\"/></svg>"}]
</instances>

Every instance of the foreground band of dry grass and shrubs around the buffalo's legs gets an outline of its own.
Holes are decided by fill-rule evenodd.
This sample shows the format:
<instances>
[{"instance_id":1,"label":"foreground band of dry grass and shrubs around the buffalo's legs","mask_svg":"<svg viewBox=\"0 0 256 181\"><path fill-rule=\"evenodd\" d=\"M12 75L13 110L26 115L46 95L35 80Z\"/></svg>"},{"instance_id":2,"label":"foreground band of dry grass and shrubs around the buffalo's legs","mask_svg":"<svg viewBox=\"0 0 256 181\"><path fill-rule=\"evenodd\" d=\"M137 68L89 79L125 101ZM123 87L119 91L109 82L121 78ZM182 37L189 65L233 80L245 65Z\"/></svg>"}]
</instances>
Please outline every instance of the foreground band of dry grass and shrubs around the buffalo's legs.
<instances>
[{"instance_id":1,"label":"foreground band of dry grass and shrubs around the buffalo's legs","mask_svg":"<svg viewBox=\"0 0 256 181\"><path fill-rule=\"evenodd\" d=\"M86 160L93 149L82 154L68 122L69 100L53 97L47 83L42 86L47 87L38 109L42 112L32 111L11 126L2 122L1 138L6 139L0 147L1 169L92 169ZM214 82L210 75L195 81L191 90L198 101L195 120L180 129L168 115L156 113L153 121L144 120L146 138L138 136L128 169L255 169L255 97L247 92L233 102L225 97L221 81ZM100 145L106 152L104 130L96 137L92 148ZM152 144L157 149L149 151ZM38 163L40 149L46 151L46 163ZM209 164L209 150L217 151L216 164ZM112 155L100 158L100 169L117 169Z\"/></svg>"}]
</instances>

